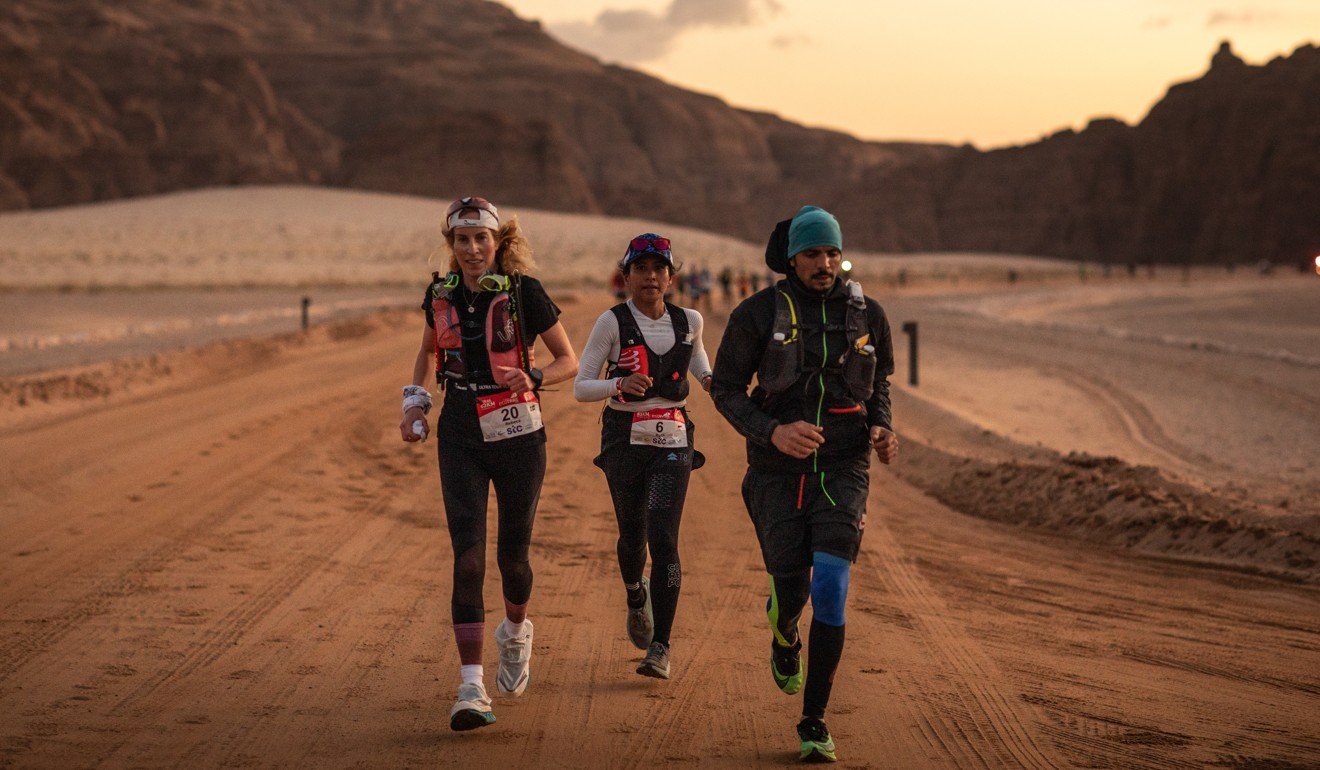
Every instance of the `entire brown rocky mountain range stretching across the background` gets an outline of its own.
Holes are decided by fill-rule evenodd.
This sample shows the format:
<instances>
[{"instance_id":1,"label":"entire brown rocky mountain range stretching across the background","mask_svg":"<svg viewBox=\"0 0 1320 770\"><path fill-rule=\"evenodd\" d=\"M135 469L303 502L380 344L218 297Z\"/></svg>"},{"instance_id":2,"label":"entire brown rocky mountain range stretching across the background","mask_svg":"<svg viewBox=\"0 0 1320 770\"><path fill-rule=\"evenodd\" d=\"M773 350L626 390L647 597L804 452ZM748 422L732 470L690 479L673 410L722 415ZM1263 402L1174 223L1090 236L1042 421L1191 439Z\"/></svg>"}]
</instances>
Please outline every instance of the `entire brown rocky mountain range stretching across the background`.
<instances>
[{"instance_id":1,"label":"entire brown rocky mountain range stretching across the background","mask_svg":"<svg viewBox=\"0 0 1320 770\"><path fill-rule=\"evenodd\" d=\"M0 207L206 185L480 192L759 239L1086 259L1296 258L1320 221L1320 54L1228 49L1139 125L865 143L606 66L483 0L11 0Z\"/></svg>"}]
</instances>

